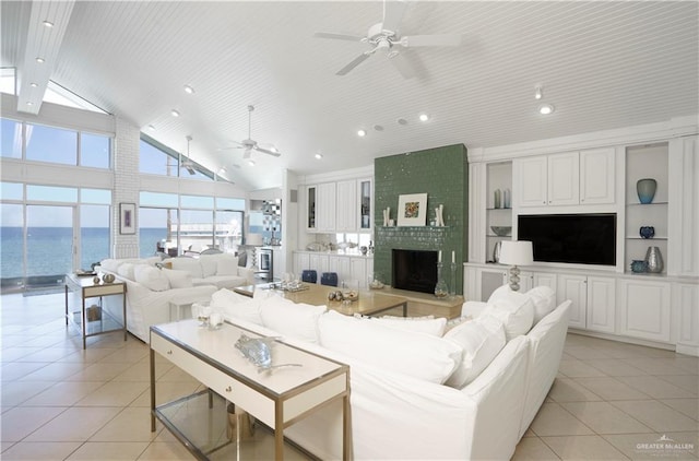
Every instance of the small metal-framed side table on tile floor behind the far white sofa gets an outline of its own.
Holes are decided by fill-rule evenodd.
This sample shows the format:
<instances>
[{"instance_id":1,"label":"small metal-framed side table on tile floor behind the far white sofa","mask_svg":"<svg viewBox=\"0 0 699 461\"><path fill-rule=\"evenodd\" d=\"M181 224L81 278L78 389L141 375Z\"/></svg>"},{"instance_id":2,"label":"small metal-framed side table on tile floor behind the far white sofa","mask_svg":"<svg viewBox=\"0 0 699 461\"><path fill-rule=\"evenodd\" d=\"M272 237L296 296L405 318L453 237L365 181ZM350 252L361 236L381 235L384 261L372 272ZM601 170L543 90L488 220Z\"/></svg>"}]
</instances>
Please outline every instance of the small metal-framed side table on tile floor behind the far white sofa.
<instances>
[{"instance_id":1,"label":"small metal-framed side table on tile floor behind the far white sofa","mask_svg":"<svg viewBox=\"0 0 699 461\"><path fill-rule=\"evenodd\" d=\"M125 282L95 284L92 276L84 277L74 273L66 274L66 326L73 323L83 335L83 348L87 346L87 338L97 334L123 331L123 341L127 340L127 284ZM80 310L70 310L68 302L69 292L80 292ZM103 296L121 295L122 317L116 319L105 309L99 309L96 318L88 318L85 308L85 299L102 298ZM100 302L102 305L102 302ZM70 310L70 311L69 311Z\"/></svg>"}]
</instances>

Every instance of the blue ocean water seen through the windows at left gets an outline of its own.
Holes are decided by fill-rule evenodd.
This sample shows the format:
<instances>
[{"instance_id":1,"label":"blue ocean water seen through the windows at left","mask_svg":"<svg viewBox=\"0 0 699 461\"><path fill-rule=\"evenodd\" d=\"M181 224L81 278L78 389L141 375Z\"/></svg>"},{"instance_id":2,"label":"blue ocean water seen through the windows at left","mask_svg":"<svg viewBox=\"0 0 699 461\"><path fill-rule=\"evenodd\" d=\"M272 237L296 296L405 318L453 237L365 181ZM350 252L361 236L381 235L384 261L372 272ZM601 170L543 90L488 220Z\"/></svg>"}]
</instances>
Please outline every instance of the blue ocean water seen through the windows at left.
<instances>
[{"instance_id":1,"label":"blue ocean water seen through the windows at left","mask_svg":"<svg viewBox=\"0 0 699 461\"><path fill-rule=\"evenodd\" d=\"M165 228L139 229L141 257L152 256L158 240L165 238ZM94 262L110 255L107 227L80 229L80 269L90 269ZM0 277L33 277L62 275L73 270L72 227L27 227L26 272L24 261L24 235L22 227L0 227Z\"/></svg>"}]
</instances>

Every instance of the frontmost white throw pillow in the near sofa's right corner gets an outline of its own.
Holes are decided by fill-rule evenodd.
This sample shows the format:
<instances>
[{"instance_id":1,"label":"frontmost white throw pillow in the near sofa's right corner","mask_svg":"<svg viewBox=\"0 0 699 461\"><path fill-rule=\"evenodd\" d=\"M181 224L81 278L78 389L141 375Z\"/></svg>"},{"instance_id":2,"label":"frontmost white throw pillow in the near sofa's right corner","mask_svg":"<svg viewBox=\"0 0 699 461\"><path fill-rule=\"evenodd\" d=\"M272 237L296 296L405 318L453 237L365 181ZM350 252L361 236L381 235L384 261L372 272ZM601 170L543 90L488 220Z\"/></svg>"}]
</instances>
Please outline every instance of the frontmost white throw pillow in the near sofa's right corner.
<instances>
[{"instance_id":1,"label":"frontmost white throw pillow in the near sofa's right corner","mask_svg":"<svg viewBox=\"0 0 699 461\"><path fill-rule=\"evenodd\" d=\"M507 339L502 323L495 317L478 317L454 327L445 334L463 348L463 358L446 385L461 389L473 381L500 353Z\"/></svg>"}]
</instances>

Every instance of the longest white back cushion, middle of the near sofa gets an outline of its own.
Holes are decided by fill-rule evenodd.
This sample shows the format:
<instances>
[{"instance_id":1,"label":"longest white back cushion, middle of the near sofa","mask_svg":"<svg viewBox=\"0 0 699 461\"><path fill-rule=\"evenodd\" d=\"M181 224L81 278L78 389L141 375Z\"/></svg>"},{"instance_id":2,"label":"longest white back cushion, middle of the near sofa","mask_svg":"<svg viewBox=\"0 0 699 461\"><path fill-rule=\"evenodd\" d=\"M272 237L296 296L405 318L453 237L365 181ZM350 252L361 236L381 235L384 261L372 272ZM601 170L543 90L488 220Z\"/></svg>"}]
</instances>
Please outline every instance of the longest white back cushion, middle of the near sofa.
<instances>
[{"instance_id":1,"label":"longest white back cushion, middle of the near sofa","mask_svg":"<svg viewBox=\"0 0 699 461\"><path fill-rule=\"evenodd\" d=\"M442 383L461 362L452 341L330 310L318 320L320 344L376 367Z\"/></svg>"}]
</instances>

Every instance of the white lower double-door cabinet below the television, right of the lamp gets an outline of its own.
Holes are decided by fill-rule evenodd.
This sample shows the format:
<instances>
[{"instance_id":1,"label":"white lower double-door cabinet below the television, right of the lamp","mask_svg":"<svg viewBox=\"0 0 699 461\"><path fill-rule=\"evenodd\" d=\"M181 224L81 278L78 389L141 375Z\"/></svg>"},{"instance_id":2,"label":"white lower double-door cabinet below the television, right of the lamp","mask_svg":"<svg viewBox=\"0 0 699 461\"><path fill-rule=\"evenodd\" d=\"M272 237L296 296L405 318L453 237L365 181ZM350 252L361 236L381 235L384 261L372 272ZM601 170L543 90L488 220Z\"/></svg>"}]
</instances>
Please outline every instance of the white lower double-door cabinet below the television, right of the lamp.
<instances>
[{"instance_id":1,"label":"white lower double-door cabinet below the television, right of the lamp","mask_svg":"<svg viewBox=\"0 0 699 461\"><path fill-rule=\"evenodd\" d=\"M557 302L572 302L568 324L581 330L615 332L613 279L574 274L558 275Z\"/></svg>"}]
</instances>

